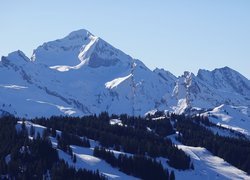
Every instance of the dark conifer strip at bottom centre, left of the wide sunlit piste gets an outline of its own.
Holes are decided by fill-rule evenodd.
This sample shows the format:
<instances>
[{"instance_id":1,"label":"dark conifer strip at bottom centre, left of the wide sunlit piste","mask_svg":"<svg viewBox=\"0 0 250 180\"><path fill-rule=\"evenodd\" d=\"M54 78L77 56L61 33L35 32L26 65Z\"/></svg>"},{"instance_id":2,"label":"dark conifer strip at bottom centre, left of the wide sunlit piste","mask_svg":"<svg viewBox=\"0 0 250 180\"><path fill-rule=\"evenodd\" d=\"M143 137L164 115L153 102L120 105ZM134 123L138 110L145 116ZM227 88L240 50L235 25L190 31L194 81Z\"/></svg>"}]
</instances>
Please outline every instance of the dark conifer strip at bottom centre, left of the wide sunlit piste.
<instances>
[{"instance_id":1,"label":"dark conifer strip at bottom centre, left of the wide sunlit piste","mask_svg":"<svg viewBox=\"0 0 250 180\"><path fill-rule=\"evenodd\" d=\"M127 156L124 154L120 154L116 158L113 152L100 147L95 147L94 156L104 159L111 166L119 168L120 171L128 175L141 179L170 179L168 170L165 170L161 163L152 160L152 158L139 155Z\"/></svg>"}]
</instances>

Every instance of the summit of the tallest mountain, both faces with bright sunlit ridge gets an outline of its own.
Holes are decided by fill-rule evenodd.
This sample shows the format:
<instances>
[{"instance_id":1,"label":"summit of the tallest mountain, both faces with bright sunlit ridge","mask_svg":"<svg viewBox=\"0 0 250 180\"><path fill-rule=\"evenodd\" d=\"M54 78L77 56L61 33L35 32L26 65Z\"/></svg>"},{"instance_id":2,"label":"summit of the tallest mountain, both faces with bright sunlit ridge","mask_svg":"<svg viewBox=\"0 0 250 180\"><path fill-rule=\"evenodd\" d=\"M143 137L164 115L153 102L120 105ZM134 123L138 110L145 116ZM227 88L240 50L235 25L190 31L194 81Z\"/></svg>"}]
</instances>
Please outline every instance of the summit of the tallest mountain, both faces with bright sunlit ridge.
<instances>
[{"instance_id":1,"label":"summit of the tallest mountain, both faces with bright sunlit ridge","mask_svg":"<svg viewBox=\"0 0 250 180\"><path fill-rule=\"evenodd\" d=\"M74 31L62 39L44 43L34 50L31 59L60 71L83 66L109 67L118 63L127 64L132 60L130 56L86 30Z\"/></svg>"}]
</instances>

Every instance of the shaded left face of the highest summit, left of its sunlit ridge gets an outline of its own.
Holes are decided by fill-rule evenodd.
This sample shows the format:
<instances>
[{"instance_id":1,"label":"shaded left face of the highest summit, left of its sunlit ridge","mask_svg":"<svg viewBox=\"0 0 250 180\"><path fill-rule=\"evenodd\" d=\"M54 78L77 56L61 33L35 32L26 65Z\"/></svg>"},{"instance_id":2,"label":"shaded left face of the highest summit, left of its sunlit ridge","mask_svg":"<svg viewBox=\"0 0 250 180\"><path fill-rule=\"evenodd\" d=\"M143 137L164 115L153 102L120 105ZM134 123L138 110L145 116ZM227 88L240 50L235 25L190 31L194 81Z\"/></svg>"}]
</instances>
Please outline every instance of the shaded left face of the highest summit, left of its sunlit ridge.
<instances>
[{"instance_id":1,"label":"shaded left face of the highest summit, left of its sunlit ridge","mask_svg":"<svg viewBox=\"0 0 250 180\"><path fill-rule=\"evenodd\" d=\"M62 39L46 42L34 50L31 59L47 66L76 66L79 53L97 37L86 30L70 33Z\"/></svg>"}]
</instances>

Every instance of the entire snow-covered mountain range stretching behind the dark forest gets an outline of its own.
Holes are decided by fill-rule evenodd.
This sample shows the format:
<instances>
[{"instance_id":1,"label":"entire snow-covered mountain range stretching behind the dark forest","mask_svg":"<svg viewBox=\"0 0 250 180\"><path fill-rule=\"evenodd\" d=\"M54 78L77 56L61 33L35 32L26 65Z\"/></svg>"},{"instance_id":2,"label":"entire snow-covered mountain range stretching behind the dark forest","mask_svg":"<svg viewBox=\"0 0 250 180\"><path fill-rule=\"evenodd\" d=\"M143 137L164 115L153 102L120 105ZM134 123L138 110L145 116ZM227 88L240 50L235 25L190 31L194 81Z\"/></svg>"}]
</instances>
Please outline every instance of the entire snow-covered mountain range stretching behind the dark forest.
<instances>
[{"instance_id":1,"label":"entire snow-covered mountain range stretching behind the dark forest","mask_svg":"<svg viewBox=\"0 0 250 180\"><path fill-rule=\"evenodd\" d=\"M171 62L169 62L171 63ZM42 44L31 58L18 50L0 61L0 112L18 117L156 111L200 114L250 134L250 80L223 67L150 70L87 30Z\"/></svg>"}]
</instances>

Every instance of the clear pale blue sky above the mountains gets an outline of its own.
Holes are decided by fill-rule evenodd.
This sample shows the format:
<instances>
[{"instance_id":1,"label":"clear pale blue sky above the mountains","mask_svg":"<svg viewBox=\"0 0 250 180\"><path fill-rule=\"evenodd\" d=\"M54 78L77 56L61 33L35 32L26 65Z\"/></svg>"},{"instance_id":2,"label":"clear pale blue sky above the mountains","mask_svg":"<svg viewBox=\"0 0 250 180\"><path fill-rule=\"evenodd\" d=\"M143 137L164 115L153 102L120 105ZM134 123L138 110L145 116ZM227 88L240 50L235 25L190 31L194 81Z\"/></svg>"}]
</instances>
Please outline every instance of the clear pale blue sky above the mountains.
<instances>
[{"instance_id":1,"label":"clear pale blue sky above the mountains","mask_svg":"<svg viewBox=\"0 0 250 180\"><path fill-rule=\"evenodd\" d=\"M250 0L1 0L0 55L87 29L150 69L250 79Z\"/></svg>"}]
</instances>

